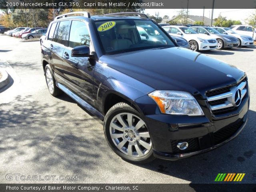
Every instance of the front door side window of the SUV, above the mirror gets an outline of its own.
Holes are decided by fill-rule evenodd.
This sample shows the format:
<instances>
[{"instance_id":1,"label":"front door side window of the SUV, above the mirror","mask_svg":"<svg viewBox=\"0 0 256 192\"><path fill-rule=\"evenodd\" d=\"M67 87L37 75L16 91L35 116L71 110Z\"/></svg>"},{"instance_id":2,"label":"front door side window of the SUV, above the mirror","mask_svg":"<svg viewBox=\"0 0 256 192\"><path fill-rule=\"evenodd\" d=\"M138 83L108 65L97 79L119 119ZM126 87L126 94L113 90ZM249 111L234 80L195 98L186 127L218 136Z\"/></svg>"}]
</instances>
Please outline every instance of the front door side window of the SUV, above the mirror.
<instances>
[{"instance_id":1,"label":"front door side window of the SUV, above the mirror","mask_svg":"<svg viewBox=\"0 0 256 192\"><path fill-rule=\"evenodd\" d=\"M69 46L90 46L90 35L84 22L72 21L69 37Z\"/></svg>"}]
</instances>

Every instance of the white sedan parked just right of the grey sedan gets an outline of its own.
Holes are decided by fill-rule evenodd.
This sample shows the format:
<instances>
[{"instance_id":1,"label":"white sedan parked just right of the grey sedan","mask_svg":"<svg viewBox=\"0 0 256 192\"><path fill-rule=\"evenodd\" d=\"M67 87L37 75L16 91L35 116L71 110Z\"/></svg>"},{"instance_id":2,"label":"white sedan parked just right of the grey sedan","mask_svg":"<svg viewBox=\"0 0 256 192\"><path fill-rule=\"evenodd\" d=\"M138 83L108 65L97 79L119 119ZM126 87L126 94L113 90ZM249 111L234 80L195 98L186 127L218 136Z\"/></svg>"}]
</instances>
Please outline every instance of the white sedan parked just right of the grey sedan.
<instances>
[{"instance_id":1,"label":"white sedan parked just right of the grey sedan","mask_svg":"<svg viewBox=\"0 0 256 192\"><path fill-rule=\"evenodd\" d=\"M218 32L220 32L221 34L229 34L238 38L238 47L253 45L253 39L251 36L238 34L234 32L232 29L226 28L226 27L213 27L213 28Z\"/></svg>"}]
</instances>

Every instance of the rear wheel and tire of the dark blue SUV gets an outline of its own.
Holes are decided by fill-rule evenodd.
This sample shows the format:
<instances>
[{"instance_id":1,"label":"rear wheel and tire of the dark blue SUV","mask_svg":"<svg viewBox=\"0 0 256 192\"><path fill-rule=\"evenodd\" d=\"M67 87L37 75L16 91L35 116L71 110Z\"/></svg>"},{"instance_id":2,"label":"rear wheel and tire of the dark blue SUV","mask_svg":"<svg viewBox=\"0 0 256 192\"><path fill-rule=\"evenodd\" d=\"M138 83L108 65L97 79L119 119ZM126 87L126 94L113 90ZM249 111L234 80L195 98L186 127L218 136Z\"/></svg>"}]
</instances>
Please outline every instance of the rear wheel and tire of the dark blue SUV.
<instances>
[{"instance_id":1,"label":"rear wheel and tire of the dark blue SUV","mask_svg":"<svg viewBox=\"0 0 256 192\"><path fill-rule=\"evenodd\" d=\"M50 92L50 94L54 97L60 95L62 91L60 90L60 88L56 86L56 81L54 79L52 69L49 64L46 65L44 69L44 74L45 74L46 85L48 87L48 91Z\"/></svg>"}]
</instances>

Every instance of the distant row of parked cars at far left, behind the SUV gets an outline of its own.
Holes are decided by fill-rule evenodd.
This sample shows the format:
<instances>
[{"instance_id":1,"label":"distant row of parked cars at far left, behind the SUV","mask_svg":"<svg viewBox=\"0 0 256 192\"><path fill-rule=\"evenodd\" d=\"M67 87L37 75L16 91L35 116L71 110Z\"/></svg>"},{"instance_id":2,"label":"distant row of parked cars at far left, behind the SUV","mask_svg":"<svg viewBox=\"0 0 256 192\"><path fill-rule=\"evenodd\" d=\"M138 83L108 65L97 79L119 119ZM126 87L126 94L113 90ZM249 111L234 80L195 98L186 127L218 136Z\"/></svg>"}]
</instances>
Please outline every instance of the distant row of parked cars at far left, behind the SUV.
<instances>
[{"instance_id":1,"label":"distant row of parked cars at far left, behind the SUV","mask_svg":"<svg viewBox=\"0 0 256 192\"><path fill-rule=\"evenodd\" d=\"M37 28L29 28L29 27L18 27L13 30L8 30L4 32L4 34L8 36L22 38L23 40L32 39L32 38L40 38L41 36L45 35L47 29L42 27Z\"/></svg>"}]
</instances>

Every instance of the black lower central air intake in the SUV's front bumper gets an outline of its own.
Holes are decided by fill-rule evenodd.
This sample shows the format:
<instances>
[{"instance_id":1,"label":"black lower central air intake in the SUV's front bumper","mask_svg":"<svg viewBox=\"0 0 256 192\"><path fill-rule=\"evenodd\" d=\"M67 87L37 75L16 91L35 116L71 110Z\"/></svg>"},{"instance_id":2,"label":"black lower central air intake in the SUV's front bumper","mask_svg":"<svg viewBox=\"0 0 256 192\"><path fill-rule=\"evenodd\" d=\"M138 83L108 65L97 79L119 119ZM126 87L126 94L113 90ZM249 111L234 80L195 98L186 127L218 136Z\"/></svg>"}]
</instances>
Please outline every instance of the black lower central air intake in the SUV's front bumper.
<instances>
[{"instance_id":1,"label":"black lower central air intake in the SUV's front bumper","mask_svg":"<svg viewBox=\"0 0 256 192\"><path fill-rule=\"evenodd\" d=\"M214 136L214 145L219 144L228 138L230 138L232 135L234 135L238 129L242 126L243 120L240 120L232 125L226 126L217 132L213 134Z\"/></svg>"}]
</instances>

